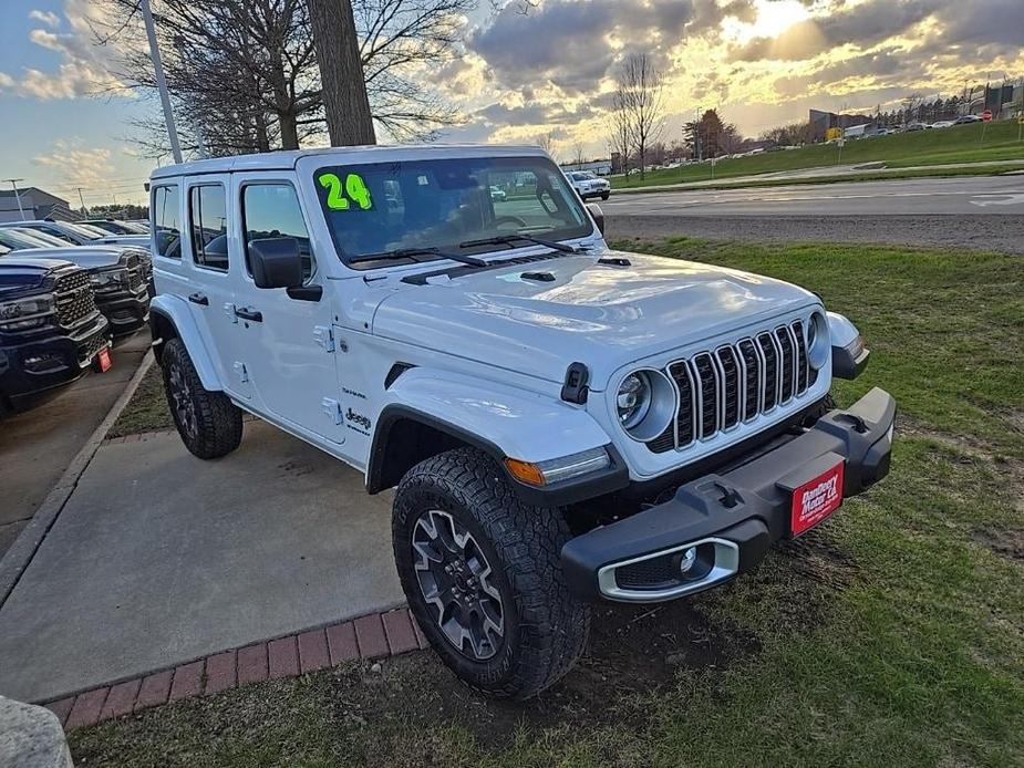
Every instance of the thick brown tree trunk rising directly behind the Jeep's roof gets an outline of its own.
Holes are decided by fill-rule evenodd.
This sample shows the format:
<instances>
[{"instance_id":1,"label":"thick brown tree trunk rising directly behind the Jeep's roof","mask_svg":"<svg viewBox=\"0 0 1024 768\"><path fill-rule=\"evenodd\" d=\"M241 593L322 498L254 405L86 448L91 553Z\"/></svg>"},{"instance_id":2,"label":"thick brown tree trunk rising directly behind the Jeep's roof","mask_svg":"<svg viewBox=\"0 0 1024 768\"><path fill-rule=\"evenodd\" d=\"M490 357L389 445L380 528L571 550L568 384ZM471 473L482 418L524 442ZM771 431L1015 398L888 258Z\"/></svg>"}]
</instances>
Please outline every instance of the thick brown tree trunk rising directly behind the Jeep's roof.
<instances>
[{"instance_id":1,"label":"thick brown tree trunk rising directly behind the Jeep's roof","mask_svg":"<svg viewBox=\"0 0 1024 768\"><path fill-rule=\"evenodd\" d=\"M351 0L307 0L331 146L376 144Z\"/></svg>"}]
</instances>

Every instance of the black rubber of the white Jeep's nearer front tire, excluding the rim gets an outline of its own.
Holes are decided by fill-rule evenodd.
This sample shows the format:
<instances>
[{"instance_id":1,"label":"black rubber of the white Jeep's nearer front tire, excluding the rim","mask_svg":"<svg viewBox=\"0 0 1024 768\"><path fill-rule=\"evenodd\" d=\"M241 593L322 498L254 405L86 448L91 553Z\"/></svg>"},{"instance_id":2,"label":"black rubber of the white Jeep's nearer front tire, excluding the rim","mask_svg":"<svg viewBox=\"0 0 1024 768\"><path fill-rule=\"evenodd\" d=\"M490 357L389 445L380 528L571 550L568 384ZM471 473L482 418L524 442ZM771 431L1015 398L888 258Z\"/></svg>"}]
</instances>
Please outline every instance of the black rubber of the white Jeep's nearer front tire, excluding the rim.
<instances>
[{"instance_id":1,"label":"black rubber of the white Jeep's nearer front tire, excluding the rim","mask_svg":"<svg viewBox=\"0 0 1024 768\"><path fill-rule=\"evenodd\" d=\"M492 567L505 633L485 661L448 640L417 580L413 530L432 510L448 513L467 530ZM561 570L561 548L571 538L561 511L524 504L486 454L458 448L410 469L395 494L392 533L399 577L420 629L472 688L498 698L528 698L561 678L586 648L590 608L569 592Z\"/></svg>"}]
</instances>

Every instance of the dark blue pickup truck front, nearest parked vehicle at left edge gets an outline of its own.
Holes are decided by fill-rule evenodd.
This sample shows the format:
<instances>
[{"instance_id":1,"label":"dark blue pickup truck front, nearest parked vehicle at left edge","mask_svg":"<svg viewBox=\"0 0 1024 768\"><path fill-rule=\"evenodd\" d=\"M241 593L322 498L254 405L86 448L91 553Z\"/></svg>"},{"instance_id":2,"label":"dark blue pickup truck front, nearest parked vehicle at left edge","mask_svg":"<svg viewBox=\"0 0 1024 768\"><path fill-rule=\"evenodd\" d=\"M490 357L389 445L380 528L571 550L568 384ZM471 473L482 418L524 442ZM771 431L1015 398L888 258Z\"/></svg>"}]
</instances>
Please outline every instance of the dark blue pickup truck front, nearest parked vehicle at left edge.
<instances>
[{"instance_id":1,"label":"dark blue pickup truck front, nearest parked vehicle at left edge","mask_svg":"<svg viewBox=\"0 0 1024 768\"><path fill-rule=\"evenodd\" d=\"M35 257L0 259L0 415L110 366L110 324L85 270Z\"/></svg>"}]
</instances>

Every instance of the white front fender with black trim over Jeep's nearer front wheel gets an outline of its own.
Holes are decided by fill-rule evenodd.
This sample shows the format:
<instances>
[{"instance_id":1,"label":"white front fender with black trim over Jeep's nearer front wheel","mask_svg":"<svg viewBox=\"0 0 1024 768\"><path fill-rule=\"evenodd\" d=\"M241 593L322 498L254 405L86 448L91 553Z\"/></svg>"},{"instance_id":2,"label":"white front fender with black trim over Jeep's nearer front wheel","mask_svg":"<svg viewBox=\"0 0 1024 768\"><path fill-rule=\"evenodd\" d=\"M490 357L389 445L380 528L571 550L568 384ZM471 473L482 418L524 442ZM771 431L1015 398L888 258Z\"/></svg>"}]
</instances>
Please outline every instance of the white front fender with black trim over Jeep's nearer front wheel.
<instances>
[{"instance_id":1,"label":"white front fender with black trim over Jeep's nearer front wheel","mask_svg":"<svg viewBox=\"0 0 1024 768\"><path fill-rule=\"evenodd\" d=\"M557 487L527 486L506 473L519 495L530 504L560 506L624 487L629 470L604 429L583 408L555 397L483 382L463 374L422 367L403 373L389 390L389 402L377 416L366 463L366 488L373 494L387 486L389 439L401 421L411 421L448 435L488 454L505 469L503 459L545 461L604 447L607 470Z\"/></svg>"}]
</instances>

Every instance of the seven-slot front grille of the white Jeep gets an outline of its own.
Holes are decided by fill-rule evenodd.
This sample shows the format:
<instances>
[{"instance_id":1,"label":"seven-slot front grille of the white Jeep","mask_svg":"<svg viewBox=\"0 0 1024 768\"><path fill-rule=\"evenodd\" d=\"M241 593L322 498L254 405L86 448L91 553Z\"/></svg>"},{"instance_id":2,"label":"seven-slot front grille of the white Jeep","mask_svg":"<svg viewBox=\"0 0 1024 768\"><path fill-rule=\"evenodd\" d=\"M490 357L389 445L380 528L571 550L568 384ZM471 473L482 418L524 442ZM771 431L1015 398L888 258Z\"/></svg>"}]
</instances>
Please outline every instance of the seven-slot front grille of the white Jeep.
<instances>
[{"instance_id":1,"label":"seven-slot front grille of the white Jeep","mask_svg":"<svg viewBox=\"0 0 1024 768\"><path fill-rule=\"evenodd\" d=\"M803 395L817 378L799 320L674 361L666 371L679 391L679 413L647 444L655 454L752 422Z\"/></svg>"}]
</instances>

